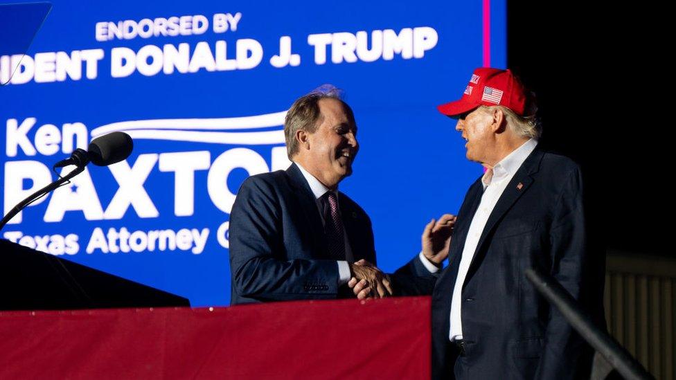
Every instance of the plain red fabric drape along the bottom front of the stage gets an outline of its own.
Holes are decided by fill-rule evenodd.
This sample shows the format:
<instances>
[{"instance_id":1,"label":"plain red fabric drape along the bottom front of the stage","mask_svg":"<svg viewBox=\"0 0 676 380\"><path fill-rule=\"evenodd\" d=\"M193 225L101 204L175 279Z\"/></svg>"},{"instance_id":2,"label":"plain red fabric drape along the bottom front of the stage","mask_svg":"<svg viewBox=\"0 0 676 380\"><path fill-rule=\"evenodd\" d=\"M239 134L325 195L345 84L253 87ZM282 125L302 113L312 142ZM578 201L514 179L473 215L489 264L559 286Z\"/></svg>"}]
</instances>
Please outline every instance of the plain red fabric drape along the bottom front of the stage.
<instances>
[{"instance_id":1,"label":"plain red fabric drape along the bottom front of the stage","mask_svg":"<svg viewBox=\"0 0 676 380\"><path fill-rule=\"evenodd\" d=\"M430 304L0 311L0 379L429 379Z\"/></svg>"}]
</instances>

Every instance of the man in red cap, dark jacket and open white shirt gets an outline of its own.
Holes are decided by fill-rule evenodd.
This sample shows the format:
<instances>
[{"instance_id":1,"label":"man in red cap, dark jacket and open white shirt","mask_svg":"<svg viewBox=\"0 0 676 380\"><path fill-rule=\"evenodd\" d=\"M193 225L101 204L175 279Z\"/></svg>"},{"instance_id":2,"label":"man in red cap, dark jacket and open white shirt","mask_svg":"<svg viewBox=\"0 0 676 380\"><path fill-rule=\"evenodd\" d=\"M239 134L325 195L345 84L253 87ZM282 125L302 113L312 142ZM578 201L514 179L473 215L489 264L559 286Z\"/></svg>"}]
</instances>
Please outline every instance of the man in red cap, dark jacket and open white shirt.
<instances>
[{"instance_id":1,"label":"man in red cap, dark jacket and open white shirt","mask_svg":"<svg viewBox=\"0 0 676 380\"><path fill-rule=\"evenodd\" d=\"M438 110L457 120L467 158L486 172L465 195L434 287L434 377L588 377L591 351L524 276L535 267L585 298L578 165L537 146L535 107L509 70L475 70L462 98Z\"/></svg>"}]
</instances>

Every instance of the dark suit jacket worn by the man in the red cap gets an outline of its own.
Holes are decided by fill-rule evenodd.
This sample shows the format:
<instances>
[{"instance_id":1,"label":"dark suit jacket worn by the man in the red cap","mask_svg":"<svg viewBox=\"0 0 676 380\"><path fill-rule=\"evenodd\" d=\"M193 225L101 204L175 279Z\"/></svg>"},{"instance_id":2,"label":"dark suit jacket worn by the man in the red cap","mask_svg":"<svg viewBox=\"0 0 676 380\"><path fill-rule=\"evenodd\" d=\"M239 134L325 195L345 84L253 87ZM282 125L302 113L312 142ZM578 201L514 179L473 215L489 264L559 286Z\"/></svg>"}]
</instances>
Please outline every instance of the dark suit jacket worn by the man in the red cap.
<instances>
[{"instance_id":1,"label":"dark suit jacket worn by the man in the red cap","mask_svg":"<svg viewBox=\"0 0 676 380\"><path fill-rule=\"evenodd\" d=\"M470 264L462 290L465 356L448 344L451 298L468 229L483 186L465 195L450 247L450 265L432 296L432 364L438 379L573 379L589 370L591 352L524 276L551 273L588 306L582 180L578 166L536 147L508 184ZM595 272L596 274L598 272ZM596 292L594 292L596 293ZM588 372L587 372L588 378Z\"/></svg>"}]
</instances>

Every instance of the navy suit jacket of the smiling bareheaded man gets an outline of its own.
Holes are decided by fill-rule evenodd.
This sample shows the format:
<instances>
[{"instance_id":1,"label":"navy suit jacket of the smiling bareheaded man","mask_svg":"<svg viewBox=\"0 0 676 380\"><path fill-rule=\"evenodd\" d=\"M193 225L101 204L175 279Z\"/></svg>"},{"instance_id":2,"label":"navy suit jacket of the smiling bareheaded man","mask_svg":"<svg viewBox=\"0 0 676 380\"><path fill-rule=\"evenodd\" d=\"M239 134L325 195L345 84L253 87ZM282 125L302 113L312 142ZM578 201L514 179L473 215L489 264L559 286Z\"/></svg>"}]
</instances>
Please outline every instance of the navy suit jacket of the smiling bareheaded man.
<instances>
[{"instance_id":1,"label":"navy suit jacket of the smiling bareheaded man","mask_svg":"<svg viewBox=\"0 0 676 380\"><path fill-rule=\"evenodd\" d=\"M375 264L371 219L341 192L338 203L355 261ZM314 194L295 163L242 183L229 235L232 305L339 296L338 266L328 259Z\"/></svg>"}]
</instances>

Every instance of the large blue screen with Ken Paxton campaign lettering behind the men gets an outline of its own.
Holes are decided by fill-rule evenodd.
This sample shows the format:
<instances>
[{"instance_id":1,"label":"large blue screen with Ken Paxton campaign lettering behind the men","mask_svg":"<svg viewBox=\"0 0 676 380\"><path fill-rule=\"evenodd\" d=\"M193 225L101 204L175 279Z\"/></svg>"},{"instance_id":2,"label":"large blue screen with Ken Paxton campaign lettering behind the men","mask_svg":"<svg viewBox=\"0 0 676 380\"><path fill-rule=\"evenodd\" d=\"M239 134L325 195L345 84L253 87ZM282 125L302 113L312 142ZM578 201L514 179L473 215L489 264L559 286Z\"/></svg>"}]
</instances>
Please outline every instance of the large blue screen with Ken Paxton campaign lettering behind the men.
<instances>
[{"instance_id":1,"label":"large blue screen with Ken Paxton campaign lettering behind the men","mask_svg":"<svg viewBox=\"0 0 676 380\"><path fill-rule=\"evenodd\" d=\"M482 172L436 105L475 67L505 66L505 1L52 4L26 55L0 57L3 212L96 136L126 132L134 152L28 206L5 239L228 305L238 187L287 168L285 111L326 83L355 111L361 148L340 190L371 216L384 271Z\"/></svg>"}]
</instances>

